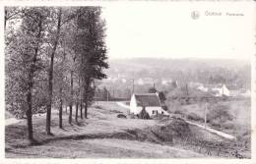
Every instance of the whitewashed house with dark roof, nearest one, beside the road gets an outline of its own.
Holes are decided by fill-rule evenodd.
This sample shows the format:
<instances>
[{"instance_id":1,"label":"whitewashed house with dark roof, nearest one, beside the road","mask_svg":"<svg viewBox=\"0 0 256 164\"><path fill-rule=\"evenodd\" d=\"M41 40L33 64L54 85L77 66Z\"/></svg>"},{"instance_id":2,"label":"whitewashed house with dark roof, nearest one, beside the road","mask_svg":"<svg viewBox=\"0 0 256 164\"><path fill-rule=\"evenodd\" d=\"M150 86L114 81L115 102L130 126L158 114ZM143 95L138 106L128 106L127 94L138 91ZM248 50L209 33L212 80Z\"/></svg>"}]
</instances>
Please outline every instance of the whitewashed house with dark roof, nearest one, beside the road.
<instances>
[{"instance_id":1,"label":"whitewashed house with dark roof, nearest one, beside the road","mask_svg":"<svg viewBox=\"0 0 256 164\"><path fill-rule=\"evenodd\" d=\"M150 117L158 114L169 115L161 108L160 97L157 93L133 94L130 101L130 113L137 115L142 111L143 107L145 107Z\"/></svg>"}]
</instances>

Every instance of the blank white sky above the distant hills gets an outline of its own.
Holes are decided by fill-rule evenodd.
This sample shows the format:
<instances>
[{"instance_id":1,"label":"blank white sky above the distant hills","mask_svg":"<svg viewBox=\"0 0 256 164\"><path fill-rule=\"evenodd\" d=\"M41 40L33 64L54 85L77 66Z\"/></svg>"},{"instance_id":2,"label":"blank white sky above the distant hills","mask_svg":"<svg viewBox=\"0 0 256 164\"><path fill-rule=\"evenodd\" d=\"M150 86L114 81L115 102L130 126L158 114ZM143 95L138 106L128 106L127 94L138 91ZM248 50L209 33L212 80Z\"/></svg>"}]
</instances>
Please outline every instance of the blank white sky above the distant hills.
<instances>
[{"instance_id":1,"label":"blank white sky above the distant hills","mask_svg":"<svg viewBox=\"0 0 256 164\"><path fill-rule=\"evenodd\" d=\"M250 59L255 54L252 6L246 2L104 6L108 57ZM192 19L193 11L199 13L198 19ZM222 16L209 16L212 12Z\"/></svg>"}]
</instances>

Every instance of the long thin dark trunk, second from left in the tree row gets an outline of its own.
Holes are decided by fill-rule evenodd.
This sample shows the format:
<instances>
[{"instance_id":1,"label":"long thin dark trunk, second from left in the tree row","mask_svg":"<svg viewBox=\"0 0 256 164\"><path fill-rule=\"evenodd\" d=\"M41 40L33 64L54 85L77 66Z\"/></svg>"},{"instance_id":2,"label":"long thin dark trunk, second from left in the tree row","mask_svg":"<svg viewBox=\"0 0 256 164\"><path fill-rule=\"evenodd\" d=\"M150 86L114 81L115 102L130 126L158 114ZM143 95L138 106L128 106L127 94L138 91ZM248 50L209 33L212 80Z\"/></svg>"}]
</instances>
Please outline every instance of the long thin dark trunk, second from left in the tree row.
<instances>
[{"instance_id":1,"label":"long thin dark trunk, second from left in the tree row","mask_svg":"<svg viewBox=\"0 0 256 164\"><path fill-rule=\"evenodd\" d=\"M60 33L60 23L61 23L61 8L59 8L58 12L58 26L57 26L57 33L56 33L56 38L53 43L53 48L51 52L51 57L50 57L50 68L49 68L49 87L48 87L48 104L47 104L47 113L46 113L46 135L51 135L50 132L50 122L51 122L51 102L52 102L52 79L53 79L53 64L54 64L54 55L56 52L56 48L58 45L59 41L59 33Z\"/></svg>"}]
</instances>

